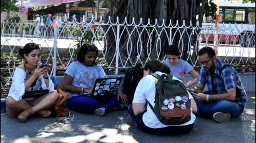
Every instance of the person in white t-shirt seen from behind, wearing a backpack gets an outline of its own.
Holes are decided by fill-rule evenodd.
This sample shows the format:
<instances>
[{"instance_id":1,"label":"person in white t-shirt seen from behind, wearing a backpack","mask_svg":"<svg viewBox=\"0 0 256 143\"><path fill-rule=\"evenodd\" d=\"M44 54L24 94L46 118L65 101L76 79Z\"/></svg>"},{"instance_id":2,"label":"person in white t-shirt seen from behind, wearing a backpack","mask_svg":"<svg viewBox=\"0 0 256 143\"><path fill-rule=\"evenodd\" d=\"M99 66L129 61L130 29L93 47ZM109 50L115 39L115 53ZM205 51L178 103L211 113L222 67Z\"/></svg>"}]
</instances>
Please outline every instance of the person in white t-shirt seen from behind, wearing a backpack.
<instances>
[{"instance_id":1,"label":"person in white t-shirt seen from behind, wearing a backpack","mask_svg":"<svg viewBox=\"0 0 256 143\"><path fill-rule=\"evenodd\" d=\"M163 71L164 73L160 72ZM154 76L150 75L156 73L158 75L169 73L170 69L166 65L157 60L149 61L144 67L144 78L142 78L135 90L134 100L132 106L129 106L128 111L135 123L142 129L142 131L155 135L172 135L172 134L185 134L190 132L194 127L195 115L197 113L197 106L195 100L189 93L191 99L191 119L180 125L165 125L162 124L154 112L150 108L147 101L152 106L155 106L155 81ZM173 79L178 80L173 76Z\"/></svg>"}]
</instances>

